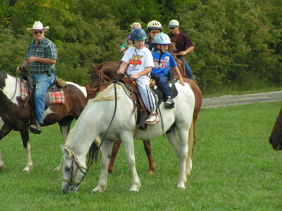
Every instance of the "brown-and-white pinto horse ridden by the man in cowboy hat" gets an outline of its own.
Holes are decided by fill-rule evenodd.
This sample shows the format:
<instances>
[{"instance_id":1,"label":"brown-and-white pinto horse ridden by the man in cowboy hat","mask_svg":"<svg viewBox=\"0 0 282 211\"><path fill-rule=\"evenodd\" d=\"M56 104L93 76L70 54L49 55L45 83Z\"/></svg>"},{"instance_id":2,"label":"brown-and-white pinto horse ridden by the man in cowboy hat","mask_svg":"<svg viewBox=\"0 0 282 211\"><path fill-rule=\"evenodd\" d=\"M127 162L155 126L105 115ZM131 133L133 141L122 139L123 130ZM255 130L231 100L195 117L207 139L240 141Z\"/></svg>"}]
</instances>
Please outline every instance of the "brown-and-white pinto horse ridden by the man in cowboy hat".
<instances>
[{"instance_id":1,"label":"brown-and-white pinto horse ridden by the man in cowboy hat","mask_svg":"<svg viewBox=\"0 0 282 211\"><path fill-rule=\"evenodd\" d=\"M43 125L58 123L64 142L73 119L77 119L86 104L85 88L67 82L63 88L65 104L50 104L43 115ZM27 165L23 171L30 172L33 163L30 155L29 121L31 118L31 104L24 107L21 100L21 87L17 78L0 71L0 116L4 122L0 130L0 140L11 130L19 131L23 141L23 147L27 157ZM0 155L0 170L5 169L5 163Z\"/></svg>"}]
</instances>

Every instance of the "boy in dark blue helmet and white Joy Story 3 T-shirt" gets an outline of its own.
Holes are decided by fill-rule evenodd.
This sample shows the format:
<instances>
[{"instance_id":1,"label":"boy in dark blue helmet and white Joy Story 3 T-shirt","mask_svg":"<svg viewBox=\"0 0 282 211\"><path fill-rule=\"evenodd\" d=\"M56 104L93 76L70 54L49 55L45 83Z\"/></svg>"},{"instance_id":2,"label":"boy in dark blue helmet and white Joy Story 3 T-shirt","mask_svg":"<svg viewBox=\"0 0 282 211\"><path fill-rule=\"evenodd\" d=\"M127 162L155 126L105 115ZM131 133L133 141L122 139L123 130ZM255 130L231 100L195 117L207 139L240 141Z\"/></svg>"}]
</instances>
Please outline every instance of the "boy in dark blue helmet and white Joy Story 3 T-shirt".
<instances>
[{"instance_id":1,"label":"boy in dark blue helmet and white Joy Story 3 T-shirt","mask_svg":"<svg viewBox=\"0 0 282 211\"><path fill-rule=\"evenodd\" d=\"M127 70L127 74L136 82L141 98L150 111L149 117L145 120L147 124L159 122L159 116L156 113L155 97L150 89L150 72L153 63L151 51L145 47L147 36L143 29L133 29L131 32L131 40L135 45L134 48L129 48L123 55L121 67L117 70L118 74L123 74Z\"/></svg>"}]
</instances>

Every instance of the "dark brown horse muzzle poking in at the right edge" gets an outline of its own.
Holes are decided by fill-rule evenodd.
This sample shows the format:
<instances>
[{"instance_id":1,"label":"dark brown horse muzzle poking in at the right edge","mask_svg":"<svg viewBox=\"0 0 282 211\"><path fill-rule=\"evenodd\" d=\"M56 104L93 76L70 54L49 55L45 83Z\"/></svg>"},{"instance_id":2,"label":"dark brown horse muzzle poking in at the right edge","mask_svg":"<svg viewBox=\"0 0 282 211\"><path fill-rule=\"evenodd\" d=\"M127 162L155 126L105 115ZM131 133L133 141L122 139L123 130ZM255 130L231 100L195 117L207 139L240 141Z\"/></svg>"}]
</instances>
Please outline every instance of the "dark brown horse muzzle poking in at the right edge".
<instances>
[{"instance_id":1,"label":"dark brown horse muzzle poking in at the right edge","mask_svg":"<svg viewBox=\"0 0 282 211\"><path fill-rule=\"evenodd\" d=\"M273 126L272 133L269 136L268 142L274 150L282 150L282 106L276 122Z\"/></svg>"}]
</instances>

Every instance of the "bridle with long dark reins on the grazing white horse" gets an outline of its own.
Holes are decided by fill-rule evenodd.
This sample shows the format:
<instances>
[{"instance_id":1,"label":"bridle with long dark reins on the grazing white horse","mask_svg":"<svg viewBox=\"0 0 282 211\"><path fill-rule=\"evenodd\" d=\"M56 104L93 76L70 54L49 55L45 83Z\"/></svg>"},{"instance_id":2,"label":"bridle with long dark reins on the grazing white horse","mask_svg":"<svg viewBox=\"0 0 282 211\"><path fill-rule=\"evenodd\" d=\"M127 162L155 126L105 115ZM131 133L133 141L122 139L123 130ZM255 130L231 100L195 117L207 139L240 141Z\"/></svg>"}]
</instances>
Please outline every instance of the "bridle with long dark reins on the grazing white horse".
<instances>
[{"instance_id":1,"label":"bridle with long dark reins on the grazing white horse","mask_svg":"<svg viewBox=\"0 0 282 211\"><path fill-rule=\"evenodd\" d=\"M101 144L99 145L99 147L95 151L95 154L98 153L98 151L99 151L99 149L100 149L100 147L101 147L101 145L102 145L102 143L103 143L103 141L104 141L104 139L105 139L105 137L106 137L106 135L107 135L107 133L109 131L109 128L110 128L110 126L112 124L112 121L113 121L113 119L115 117L115 112L117 110L117 89L116 89L116 83L117 83L117 81L113 82L113 84L115 86L115 111L114 111L114 114L113 114L113 118L112 118L112 120L110 122L110 125L109 125L109 127L108 127L108 129L107 129L107 131L106 131L102 141L101 141ZM85 176L87 174L87 171L89 170L89 168L93 164L95 156L93 156L91 163L89 164L88 168L86 169L85 167L81 166L81 164L79 163L79 158L75 155L75 153L71 149L69 149L69 151L72 154L72 156L71 156L71 178L69 180L63 179L62 181L63 182L69 182L69 192L73 192L83 182L83 179L85 178ZM74 168L73 163L74 163L74 161L77 164L77 169L73 173L73 168ZM86 170L86 171L84 172L83 169ZM78 170L80 170L83 173L83 176L82 176L80 182L75 182L75 177L77 175Z\"/></svg>"}]
</instances>

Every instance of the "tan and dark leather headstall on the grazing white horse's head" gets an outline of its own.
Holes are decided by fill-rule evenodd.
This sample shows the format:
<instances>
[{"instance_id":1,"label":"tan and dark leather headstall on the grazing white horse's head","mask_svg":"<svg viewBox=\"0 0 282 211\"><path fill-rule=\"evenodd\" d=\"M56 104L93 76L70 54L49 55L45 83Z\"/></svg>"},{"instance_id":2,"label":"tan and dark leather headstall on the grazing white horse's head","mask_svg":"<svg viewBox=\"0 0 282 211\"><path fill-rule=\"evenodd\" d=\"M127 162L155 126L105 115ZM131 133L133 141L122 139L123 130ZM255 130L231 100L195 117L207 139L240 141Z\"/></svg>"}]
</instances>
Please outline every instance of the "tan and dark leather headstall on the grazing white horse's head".
<instances>
[{"instance_id":1,"label":"tan and dark leather headstall on the grazing white horse's head","mask_svg":"<svg viewBox=\"0 0 282 211\"><path fill-rule=\"evenodd\" d=\"M71 152L72 156L71 156L71 178L70 180L65 180L63 179L63 182L69 182L69 192L73 192L75 190L75 188L77 188L79 186L79 184L81 184L83 182L84 177L86 176L87 173L87 169L84 168L83 166L81 166L81 164L79 163L79 158L75 155L75 153L69 149L69 151ZM75 173L73 173L73 160L75 161L76 165L77 165L77 169L75 170ZM77 175L78 169L84 174L83 177L81 178L80 182L75 182L75 177ZM83 171L86 170L85 172ZM76 186L75 186L76 185ZM75 187L74 187L75 186Z\"/></svg>"}]
</instances>

